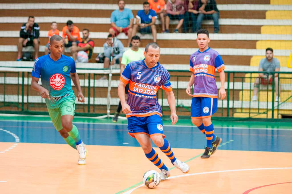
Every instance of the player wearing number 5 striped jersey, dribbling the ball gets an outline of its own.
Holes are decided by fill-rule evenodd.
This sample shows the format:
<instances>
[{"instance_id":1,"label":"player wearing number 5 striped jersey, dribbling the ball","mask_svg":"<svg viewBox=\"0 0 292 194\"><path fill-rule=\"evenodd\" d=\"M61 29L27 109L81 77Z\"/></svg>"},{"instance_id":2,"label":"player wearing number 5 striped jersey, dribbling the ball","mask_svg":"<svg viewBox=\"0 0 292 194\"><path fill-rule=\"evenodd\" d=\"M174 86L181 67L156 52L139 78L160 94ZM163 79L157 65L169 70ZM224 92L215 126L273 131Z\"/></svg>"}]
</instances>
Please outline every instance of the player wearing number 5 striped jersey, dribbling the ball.
<instances>
[{"instance_id":1,"label":"player wearing number 5 striped jersey, dribbling the ball","mask_svg":"<svg viewBox=\"0 0 292 194\"><path fill-rule=\"evenodd\" d=\"M144 56L143 60L127 64L120 77L118 95L122 111L128 118L128 134L137 139L148 160L161 169L160 177L161 181L164 181L170 176L170 172L152 148L150 139L183 173L189 172L190 168L186 163L175 158L170 143L164 139L161 106L156 98L160 87L166 92L173 125L178 121L178 116L175 111L175 97L169 81L170 75L158 62L159 46L156 43L147 44ZM126 101L125 86L128 83L130 85Z\"/></svg>"}]
</instances>

